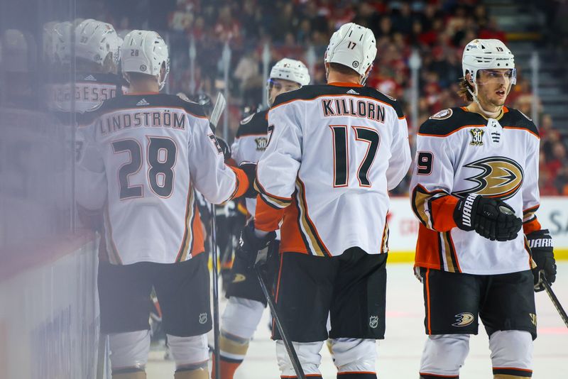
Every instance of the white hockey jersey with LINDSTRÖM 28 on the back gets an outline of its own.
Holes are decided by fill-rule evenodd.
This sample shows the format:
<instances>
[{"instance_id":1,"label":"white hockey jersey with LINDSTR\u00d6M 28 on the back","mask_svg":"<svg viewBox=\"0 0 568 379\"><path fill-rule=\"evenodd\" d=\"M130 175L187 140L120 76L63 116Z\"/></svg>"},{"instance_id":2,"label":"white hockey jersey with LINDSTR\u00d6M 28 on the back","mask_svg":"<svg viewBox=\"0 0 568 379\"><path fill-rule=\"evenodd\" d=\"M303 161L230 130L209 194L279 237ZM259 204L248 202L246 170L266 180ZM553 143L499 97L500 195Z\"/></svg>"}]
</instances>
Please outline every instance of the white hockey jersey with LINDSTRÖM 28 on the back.
<instances>
[{"instance_id":1,"label":"white hockey jersey with LINDSTR\u00d6M 28 on the back","mask_svg":"<svg viewBox=\"0 0 568 379\"><path fill-rule=\"evenodd\" d=\"M104 101L85 129L77 202L104 208L108 259L175 263L204 251L197 189L215 204L241 196L202 107L165 94Z\"/></svg>"}]
</instances>

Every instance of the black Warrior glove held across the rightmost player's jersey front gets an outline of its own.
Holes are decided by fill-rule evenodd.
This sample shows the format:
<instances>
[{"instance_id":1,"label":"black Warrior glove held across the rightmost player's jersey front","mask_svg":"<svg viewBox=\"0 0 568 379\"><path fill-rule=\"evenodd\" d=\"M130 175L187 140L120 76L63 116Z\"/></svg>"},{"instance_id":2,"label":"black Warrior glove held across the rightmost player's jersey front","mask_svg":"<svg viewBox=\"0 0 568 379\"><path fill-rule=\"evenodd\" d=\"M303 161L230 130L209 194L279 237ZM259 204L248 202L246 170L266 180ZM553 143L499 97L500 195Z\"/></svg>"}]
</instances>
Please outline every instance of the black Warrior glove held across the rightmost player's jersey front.
<instances>
[{"instance_id":1,"label":"black Warrior glove held across the rightmost player's jersey front","mask_svg":"<svg viewBox=\"0 0 568 379\"><path fill-rule=\"evenodd\" d=\"M517 238L523 221L502 200L469 194L459 199L454 210L454 221L464 231L476 231L491 241L510 241Z\"/></svg>"}]
</instances>

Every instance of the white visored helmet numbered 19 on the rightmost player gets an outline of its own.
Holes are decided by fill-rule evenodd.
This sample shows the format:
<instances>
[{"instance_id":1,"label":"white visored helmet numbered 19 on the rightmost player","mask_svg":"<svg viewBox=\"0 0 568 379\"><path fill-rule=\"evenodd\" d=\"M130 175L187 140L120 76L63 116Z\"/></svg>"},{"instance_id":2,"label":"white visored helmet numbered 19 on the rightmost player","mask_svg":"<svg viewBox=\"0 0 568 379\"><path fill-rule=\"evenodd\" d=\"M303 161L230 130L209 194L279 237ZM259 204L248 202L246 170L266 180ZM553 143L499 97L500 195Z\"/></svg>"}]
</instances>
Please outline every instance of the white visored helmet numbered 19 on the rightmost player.
<instances>
[{"instance_id":1,"label":"white visored helmet numbered 19 on the rightmost player","mask_svg":"<svg viewBox=\"0 0 568 379\"><path fill-rule=\"evenodd\" d=\"M478 70L510 69L511 83L517 81L515 56L501 40L475 39L466 45L461 58L461 69L464 77L469 72L473 83L476 83Z\"/></svg>"}]
</instances>

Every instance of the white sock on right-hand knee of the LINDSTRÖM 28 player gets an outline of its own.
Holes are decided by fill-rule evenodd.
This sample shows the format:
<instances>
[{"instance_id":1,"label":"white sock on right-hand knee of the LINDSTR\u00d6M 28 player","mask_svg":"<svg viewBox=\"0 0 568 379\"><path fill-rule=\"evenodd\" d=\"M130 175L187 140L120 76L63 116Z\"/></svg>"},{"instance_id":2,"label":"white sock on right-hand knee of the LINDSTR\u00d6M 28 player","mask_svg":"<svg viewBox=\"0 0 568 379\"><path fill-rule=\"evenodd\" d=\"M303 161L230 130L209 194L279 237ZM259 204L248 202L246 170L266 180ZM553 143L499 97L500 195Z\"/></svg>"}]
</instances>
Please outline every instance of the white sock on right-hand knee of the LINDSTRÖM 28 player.
<instances>
[{"instance_id":1,"label":"white sock on right-hand knee of the LINDSTR\u00d6M 28 player","mask_svg":"<svg viewBox=\"0 0 568 379\"><path fill-rule=\"evenodd\" d=\"M191 337L172 336L170 334L167 336L168 347L178 370L207 368L207 361L209 361L207 334Z\"/></svg>"}]
</instances>

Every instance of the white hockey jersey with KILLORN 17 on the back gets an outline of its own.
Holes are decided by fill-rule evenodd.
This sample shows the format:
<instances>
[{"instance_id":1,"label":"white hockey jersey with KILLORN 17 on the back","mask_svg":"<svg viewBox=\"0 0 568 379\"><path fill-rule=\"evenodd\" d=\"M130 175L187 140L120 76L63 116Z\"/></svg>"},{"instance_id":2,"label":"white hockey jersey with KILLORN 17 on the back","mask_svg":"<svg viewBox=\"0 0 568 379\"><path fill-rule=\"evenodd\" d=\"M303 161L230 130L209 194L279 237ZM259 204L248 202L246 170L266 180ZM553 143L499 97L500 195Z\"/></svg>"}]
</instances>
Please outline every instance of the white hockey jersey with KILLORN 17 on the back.
<instances>
[{"instance_id":1,"label":"white hockey jersey with KILLORN 17 on the back","mask_svg":"<svg viewBox=\"0 0 568 379\"><path fill-rule=\"evenodd\" d=\"M255 226L280 229L280 251L339 256L388 251L388 189L410 166L399 104L376 89L334 83L280 94L258 161Z\"/></svg>"}]
</instances>

